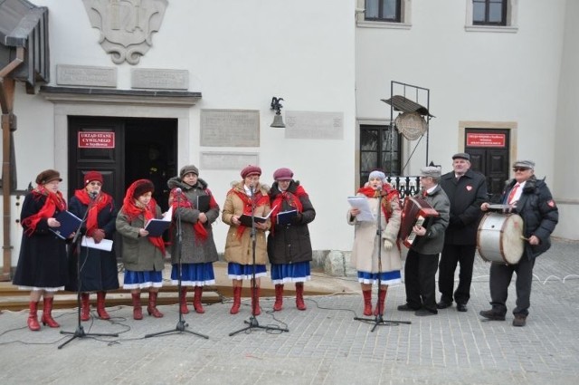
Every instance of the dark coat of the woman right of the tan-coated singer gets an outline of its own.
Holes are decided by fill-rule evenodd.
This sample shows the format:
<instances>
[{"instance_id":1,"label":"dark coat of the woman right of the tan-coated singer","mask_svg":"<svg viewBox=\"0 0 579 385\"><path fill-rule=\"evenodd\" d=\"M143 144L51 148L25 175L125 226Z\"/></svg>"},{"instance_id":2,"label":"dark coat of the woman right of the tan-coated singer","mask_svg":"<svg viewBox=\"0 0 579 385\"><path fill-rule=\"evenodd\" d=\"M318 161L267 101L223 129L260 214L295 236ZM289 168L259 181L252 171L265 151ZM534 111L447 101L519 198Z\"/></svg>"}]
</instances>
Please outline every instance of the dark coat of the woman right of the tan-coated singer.
<instances>
[{"instance_id":1,"label":"dark coat of the woman right of the tan-coated singer","mask_svg":"<svg viewBox=\"0 0 579 385\"><path fill-rule=\"evenodd\" d=\"M289 183L288 192L295 194L299 181ZM270 190L270 202L281 194L278 182L274 182ZM268 236L268 257L271 264L292 264L312 260L311 239L308 223L316 217L316 210L307 195L299 197L302 212L288 225L271 224L272 231ZM294 209L287 201L282 201L281 211Z\"/></svg>"}]
</instances>

